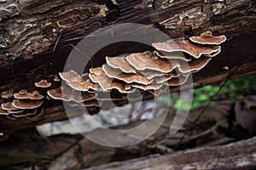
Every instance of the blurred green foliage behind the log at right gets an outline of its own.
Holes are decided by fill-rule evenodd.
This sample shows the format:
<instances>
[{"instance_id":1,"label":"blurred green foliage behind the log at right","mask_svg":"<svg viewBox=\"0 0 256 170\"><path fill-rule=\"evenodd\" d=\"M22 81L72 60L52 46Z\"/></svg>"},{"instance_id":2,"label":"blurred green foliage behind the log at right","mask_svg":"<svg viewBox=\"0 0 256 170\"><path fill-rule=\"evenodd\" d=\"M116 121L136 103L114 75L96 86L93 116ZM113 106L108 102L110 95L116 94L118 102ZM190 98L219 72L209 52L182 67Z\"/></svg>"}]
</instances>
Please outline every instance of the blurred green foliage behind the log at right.
<instances>
[{"instance_id":1,"label":"blurred green foliage behind the log at right","mask_svg":"<svg viewBox=\"0 0 256 170\"><path fill-rule=\"evenodd\" d=\"M222 82L224 83L224 82ZM193 109L199 105L207 103L207 100L214 97L214 99L241 99L247 95L255 94L256 92L256 75L235 78L227 82L218 93L217 96L214 96L221 85L212 86L207 85L201 88L195 88L189 92L193 92L193 101L190 105L180 99L177 93L172 95L160 96L157 101L164 105L172 105L175 109L180 108L183 110Z\"/></svg>"}]
</instances>

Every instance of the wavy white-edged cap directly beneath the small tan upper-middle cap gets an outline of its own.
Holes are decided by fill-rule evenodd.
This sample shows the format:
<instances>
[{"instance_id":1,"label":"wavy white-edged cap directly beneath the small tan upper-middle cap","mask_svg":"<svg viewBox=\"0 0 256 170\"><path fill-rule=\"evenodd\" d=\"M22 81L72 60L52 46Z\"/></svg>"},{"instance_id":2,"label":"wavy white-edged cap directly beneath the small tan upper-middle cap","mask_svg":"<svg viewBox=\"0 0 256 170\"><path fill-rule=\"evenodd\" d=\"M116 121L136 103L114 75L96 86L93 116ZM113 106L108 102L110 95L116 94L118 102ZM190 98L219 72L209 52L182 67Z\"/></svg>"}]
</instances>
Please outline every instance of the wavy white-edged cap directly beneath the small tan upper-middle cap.
<instances>
[{"instance_id":1,"label":"wavy white-edged cap directly beneath the small tan upper-middle cap","mask_svg":"<svg viewBox=\"0 0 256 170\"><path fill-rule=\"evenodd\" d=\"M125 73L119 69L113 69L108 65L102 65L102 70L108 77L116 78L126 83L137 82L140 84L148 85L153 82L153 80L148 80L148 78L143 76L141 73Z\"/></svg>"}]
</instances>

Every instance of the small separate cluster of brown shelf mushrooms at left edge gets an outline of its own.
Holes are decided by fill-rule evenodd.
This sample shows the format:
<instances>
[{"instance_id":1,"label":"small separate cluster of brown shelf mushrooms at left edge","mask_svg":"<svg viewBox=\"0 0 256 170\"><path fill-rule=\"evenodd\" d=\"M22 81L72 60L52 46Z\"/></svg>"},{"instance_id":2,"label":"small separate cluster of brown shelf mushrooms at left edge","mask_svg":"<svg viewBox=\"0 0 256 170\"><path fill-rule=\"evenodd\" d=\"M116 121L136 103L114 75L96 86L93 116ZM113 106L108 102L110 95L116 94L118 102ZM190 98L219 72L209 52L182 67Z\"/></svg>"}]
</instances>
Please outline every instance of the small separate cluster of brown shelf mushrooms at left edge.
<instances>
[{"instance_id":1,"label":"small separate cluster of brown shelf mushrooms at left edge","mask_svg":"<svg viewBox=\"0 0 256 170\"><path fill-rule=\"evenodd\" d=\"M0 107L0 115L6 115L9 118L27 117L28 119L38 116L42 112L42 108L38 108L43 104L44 95L38 91L28 93L26 90L14 94L12 101L3 103Z\"/></svg>"}]
</instances>

